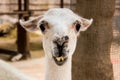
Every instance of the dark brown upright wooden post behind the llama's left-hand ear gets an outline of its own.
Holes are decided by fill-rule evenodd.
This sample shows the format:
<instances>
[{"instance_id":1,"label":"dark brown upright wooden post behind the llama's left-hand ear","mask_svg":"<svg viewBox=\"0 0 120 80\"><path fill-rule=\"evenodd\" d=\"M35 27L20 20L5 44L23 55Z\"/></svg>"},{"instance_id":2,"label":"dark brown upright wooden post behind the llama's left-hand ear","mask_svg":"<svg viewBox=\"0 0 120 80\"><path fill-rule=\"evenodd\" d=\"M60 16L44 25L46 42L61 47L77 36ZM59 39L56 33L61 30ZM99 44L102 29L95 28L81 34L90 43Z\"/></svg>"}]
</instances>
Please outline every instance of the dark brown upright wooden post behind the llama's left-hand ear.
<instances>
[{"instance_id":1,"label":"dark brown upright wooden post behind the llama's left-hand ear","mask_svg":"<svg viewBox=\"0 0 120 80\"><path fill-rule=\"evenodd\" d=\"M24 10L28 10L29 0L24 0ZM18 0L18 11L22 11L22 0ZM19 19L23 17L22 14L19 14ZM26 20L28 17L25 18ZM17 49L19 53L23 54L23 59L30 57L29 52L29 36L28 33L18 24L17 29Z\"/></svg>"}]
</instances>

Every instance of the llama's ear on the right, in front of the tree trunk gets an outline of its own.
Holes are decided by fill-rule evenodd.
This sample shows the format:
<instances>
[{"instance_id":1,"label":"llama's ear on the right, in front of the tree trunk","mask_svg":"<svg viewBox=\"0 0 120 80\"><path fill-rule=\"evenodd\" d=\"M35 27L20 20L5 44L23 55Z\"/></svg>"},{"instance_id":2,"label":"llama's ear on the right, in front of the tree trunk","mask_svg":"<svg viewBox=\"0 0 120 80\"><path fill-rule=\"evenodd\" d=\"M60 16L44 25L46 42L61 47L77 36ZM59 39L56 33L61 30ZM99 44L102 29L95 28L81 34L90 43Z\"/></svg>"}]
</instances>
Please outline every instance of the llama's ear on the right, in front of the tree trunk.
<instances>
[{"instance_id":1,"label":"llama's ear on the right, in front of the tree trunk","mask_svg":"<svg viewBox=\"0 0 120 80\"><path fill-rule=\"evenodd\" d=\"M80 19L81 22L81 28L80 31L85 31L88 29L88 27L92 24L93 19L85 19L85 18L81 18Z\"/></svg>"}]
</instances>

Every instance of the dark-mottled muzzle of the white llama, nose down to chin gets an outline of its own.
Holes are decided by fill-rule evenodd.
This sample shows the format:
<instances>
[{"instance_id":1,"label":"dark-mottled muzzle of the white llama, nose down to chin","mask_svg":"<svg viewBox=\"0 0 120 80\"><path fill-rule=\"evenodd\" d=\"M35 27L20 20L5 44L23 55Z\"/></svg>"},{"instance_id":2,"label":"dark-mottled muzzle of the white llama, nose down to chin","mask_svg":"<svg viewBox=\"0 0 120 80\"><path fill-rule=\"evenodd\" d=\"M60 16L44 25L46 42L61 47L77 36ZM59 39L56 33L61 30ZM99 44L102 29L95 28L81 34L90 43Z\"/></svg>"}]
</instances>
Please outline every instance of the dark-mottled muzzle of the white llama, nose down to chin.
<instances>
[{"instance_id":1,"label":"dark-mottled muzzle of the white llama, nose down to chin","mask_svg":"<svg viewBox=\"0 0 120 80\"><path fill-rule=\"evenodd\" d=\"M69 42L68 36L63 36L62 38L56 38L53 40L54 43L54 53L53 58L57 65L63 65L67 60L67 55L69 50L67 49Z\"/></svg>"}]
</instances>

